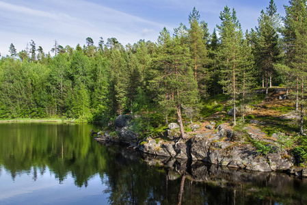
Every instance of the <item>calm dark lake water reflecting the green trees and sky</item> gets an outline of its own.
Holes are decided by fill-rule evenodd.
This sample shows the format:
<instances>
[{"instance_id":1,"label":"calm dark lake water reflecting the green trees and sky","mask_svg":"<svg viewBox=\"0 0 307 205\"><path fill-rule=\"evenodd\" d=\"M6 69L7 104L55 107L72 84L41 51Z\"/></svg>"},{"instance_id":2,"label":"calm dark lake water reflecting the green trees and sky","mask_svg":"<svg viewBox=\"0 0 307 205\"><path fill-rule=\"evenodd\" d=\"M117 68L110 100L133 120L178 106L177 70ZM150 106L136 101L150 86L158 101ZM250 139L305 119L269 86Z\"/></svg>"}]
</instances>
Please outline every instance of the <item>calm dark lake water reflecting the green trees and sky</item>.
<instances>
[{"instance_id":1,"label":"calm dark lake water reflecting the green trees and sky","mask_svg":"<svg viewBox=\"0 0 307 205\"><path fill-rule=\"evenodd\" d=\"M0 124L0 204L307 204L307 179L139 156L88 124Z\"/></svg>"}]
</instances>

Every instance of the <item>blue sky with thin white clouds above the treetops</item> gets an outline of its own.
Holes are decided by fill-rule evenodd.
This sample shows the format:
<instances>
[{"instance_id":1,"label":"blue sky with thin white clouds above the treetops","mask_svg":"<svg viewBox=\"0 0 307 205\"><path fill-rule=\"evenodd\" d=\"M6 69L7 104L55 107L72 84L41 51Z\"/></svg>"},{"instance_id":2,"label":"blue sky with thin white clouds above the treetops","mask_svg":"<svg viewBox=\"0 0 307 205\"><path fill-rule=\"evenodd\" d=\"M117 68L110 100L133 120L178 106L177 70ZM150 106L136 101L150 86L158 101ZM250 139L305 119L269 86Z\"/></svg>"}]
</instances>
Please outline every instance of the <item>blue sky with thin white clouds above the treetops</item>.
<instances>
[{"instance_id":1,"label":"blue sky with thin white clouds above the treetops","mask_svg":"<svg viewBox=\"0 0 307 205\"><path fill-rule=\"evenodd\" d=\"M289 0L275 0L284 16ZM261 10L269 0L0 0L0 53L9 55L10 44L17 52L34 40L48 53L55 40L62 46L83 46L90 37L97 46L100 37L116 38L121 44L138 40L157 42L166 27L171 33L180 23L189 27L189 14L196 7L200 20L212 33L219 13L235 8L242 30L258 25ZM51 53L52 55L53 53Z\"/></svg>"}]
</instances>

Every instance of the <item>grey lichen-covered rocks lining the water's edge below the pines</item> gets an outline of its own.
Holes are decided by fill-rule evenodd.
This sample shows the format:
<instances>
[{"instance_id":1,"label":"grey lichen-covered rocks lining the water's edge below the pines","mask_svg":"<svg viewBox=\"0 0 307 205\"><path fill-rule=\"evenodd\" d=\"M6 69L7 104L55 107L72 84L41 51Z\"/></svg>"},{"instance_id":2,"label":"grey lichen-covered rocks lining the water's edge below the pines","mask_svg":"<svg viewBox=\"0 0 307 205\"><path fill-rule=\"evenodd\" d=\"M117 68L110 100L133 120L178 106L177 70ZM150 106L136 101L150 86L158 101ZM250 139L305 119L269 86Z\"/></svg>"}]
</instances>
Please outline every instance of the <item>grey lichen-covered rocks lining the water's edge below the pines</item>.
<instances>
[{"instance_id":1,"label":"grey lichen-covered rocks lining the water's edge below the pines","mask_svg":"<svg viewBox=\"0 0 307 205\"><path fill-rule=\"evenodd\" d=\"M240 137L227 124L216 126L215 122L207 124L202 131L198 132L196 130L200 126L191 124L190 128L196 134L185 140L178 137L176 124L170 124L162 138L147 137L139 141L137 133L129 124L131 118L129 115L120 115L116 118L114 126L118 136L111 137L108 132L103 135L98 133L95 139L126 143L145 154L164 156L168 159L189 159L237 169L261 172L280 171L295 176L307 176L307 169L293 166L297 162L294 156L280 149L276 140L269 139L265 133L253 126L246 126L244 129L250 139L265 141L266 146L271 148L268 153L259 152L252 143L239 139Z\"/></svg>"}]
</instances>

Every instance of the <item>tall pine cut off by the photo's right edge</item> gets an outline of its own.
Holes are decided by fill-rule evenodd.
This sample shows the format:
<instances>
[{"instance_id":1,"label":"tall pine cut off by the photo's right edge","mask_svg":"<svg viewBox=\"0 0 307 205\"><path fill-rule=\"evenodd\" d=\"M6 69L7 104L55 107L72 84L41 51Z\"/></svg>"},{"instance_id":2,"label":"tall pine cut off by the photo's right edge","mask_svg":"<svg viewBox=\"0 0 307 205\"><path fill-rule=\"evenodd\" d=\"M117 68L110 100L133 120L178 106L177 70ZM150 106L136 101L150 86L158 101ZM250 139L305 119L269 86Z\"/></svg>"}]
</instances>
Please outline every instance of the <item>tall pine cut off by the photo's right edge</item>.
<instances>
[{"instance_id":1,"label":"tall pine cut off by the photo's right edge","mask_svg":"<svg viewBox=\"0 0 307 205\"><path fill-rule=\"evenodd\" d=\"M305 84L307 79L307 8L306 0L291 0L286 6L284 18L284 41L286 42L286 59L296 77L296 103L300 107L299 133L304 134L304 107L306 106Z\"/></svg>"}]
</instances>

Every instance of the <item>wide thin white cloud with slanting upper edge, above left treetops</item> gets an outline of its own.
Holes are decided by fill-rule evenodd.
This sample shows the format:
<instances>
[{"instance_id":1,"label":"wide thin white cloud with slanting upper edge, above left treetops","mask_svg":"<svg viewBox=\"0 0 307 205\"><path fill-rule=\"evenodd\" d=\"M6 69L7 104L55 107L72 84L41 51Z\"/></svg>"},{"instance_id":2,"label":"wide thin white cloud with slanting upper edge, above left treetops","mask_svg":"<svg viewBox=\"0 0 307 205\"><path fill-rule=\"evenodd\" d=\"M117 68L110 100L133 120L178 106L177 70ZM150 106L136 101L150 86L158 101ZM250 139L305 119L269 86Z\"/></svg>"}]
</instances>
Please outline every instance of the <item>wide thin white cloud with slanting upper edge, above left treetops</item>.
<instances>
[{"instance_id":1,"label":"wide thin white cloud with slanting upper edge, above left treetops","mask_svg":"<svg viewBox=\"0 0 307 205\"><path fill-rule=\"evenodd\" d=\"M155 41L155 33L163 28L159 23L87 1L50 0L40 1L37 5L24 1L18 5L15 3L0 1L0 18L5 19L0 22L3 28L0 37L8 40L0 43L2 55L8 55L10 43L13 42L17 51L21 51L31 39L45 52L50 51L53 40L62 46L85 44L87 37L98 42L100 36L105 40L118 38L122 44L137 42L144 35L146 40Z\"/></svg>"}]
</instances>

